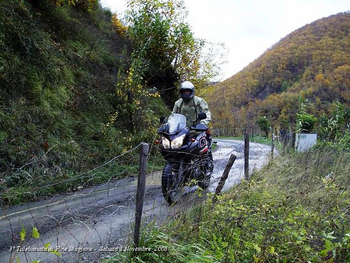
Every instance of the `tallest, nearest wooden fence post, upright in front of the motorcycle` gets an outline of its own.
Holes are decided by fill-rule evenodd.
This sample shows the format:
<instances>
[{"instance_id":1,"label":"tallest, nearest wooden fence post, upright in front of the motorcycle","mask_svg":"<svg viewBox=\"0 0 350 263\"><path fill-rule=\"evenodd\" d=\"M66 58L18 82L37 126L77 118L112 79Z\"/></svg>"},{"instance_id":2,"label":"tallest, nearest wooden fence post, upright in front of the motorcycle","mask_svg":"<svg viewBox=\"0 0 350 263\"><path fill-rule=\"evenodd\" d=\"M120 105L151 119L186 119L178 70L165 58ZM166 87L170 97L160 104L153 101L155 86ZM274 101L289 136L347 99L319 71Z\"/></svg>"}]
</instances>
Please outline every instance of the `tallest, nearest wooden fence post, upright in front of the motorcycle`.
<instances>
[{"instance_id":1,"label":"tallest, nearest wooden fence post, upright in front of the motorcycle","mask_svg":"<svg viewBox=\"0 0 350 263\"><path fill-rule=\"evenodd\" d=\"M137 193L136 193L135 230L134 230L135 247L139 247L139 240L140 240L140 225L141 225L143 198L144 198L144 190L145 190L145 183L146 183L146 168L147 168L148 150L149 150L149 144L142 143L141 150L140 150L140 166L139 166L139 175L138 175L138 187L137 187ZM136 251L134 251L134 256L135 256L135 252Z\"/></svg>"}]
</instances>

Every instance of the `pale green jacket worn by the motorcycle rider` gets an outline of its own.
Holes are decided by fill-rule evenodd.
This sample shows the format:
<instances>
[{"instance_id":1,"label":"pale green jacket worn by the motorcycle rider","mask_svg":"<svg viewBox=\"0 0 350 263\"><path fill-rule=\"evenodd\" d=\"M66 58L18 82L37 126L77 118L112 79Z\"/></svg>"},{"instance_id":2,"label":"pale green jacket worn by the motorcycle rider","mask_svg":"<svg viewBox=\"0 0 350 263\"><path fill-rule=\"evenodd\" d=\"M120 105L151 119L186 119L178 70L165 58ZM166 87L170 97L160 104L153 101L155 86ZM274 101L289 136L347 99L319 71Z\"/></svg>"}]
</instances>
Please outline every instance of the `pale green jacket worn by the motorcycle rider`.
<instances>
[{"instance_id":1,"label":"pale green jacket worn by the motorcycle rider","mask_svg":"<svg viewBox=\"0 0 350 263\"><path fill-rule=\"evenodd\" d=\"M206 113L207 118L201 121L195 121L198 118L198 113ZM193 96L189 101L184 101L182 98L175 102L173 113L182 114L186 117L187 127L191 127L198 123L208 125L211 119L211 113L208 109L208 104L204 99Z\"/></svg>"}]
</instances>

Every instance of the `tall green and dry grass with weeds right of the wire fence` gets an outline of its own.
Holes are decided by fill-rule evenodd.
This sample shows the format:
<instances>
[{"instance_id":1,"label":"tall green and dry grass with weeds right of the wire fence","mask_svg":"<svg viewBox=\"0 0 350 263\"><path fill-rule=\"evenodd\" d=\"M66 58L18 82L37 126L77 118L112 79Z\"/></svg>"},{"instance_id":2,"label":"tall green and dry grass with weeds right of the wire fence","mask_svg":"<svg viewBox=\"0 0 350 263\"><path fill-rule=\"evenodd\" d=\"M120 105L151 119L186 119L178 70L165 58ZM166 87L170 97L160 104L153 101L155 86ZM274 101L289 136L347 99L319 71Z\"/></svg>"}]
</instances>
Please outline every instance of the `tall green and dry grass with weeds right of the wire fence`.
<instances>
[{"instance_id":1,"label":"tall green and dry grass with weeds right of the wire fence","mask_svg":"<svg viewBox=\"0 0 350 263\"><path fill-rule=\"evenodd\" d=\"M167 253L107 262L350 262L349 158L324 146L278 156L217 202L143 233L141 246L164 242Z\"/></svg>"}]
</instances>

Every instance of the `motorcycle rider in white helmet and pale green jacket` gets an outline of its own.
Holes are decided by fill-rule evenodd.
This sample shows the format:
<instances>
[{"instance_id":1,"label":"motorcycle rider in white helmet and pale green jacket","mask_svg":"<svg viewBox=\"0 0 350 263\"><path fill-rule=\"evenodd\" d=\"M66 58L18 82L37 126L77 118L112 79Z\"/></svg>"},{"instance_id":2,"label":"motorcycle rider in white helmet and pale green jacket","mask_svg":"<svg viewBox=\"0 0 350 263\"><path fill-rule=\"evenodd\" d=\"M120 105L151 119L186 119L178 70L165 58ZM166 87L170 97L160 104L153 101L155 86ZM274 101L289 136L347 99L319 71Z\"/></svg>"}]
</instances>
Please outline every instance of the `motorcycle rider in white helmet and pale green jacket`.
<instances>
[{"instance_id":1,"label":"motorcycle rider in white helmet and pale green jacket","mask_svg":"<svg viewBox=\"0 0 350 263\"><path fill-rule=\"evenodd\" d=\"M208 125L211 119L211 113L208 108L207 102L194 95L194 85L190 81L184 81L180 85L179 93L181 98L175 102L173 113L182 114L186 117L186 126L195 126L198 123ZM207 118L204 120L198 120L198 113L206 113ZM207 133L207 143L210 140L209 130ZM195 131L190 131L190 136L198 135ZM205 178L210 179L210 160L208 153L205 156L204 174Z\"/></svg>"}]
</instances>

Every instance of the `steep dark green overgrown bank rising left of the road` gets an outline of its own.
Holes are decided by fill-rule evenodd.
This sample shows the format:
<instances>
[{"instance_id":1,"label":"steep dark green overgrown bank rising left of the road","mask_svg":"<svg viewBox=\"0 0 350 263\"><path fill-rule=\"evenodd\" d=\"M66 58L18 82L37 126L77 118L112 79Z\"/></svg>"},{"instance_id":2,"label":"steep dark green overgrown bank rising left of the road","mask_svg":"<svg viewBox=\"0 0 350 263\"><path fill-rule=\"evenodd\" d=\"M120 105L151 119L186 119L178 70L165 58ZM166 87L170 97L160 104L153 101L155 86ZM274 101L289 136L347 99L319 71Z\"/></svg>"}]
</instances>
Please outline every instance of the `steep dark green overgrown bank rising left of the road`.
<instances>
[{"instance_id":1,"label":"steep dark green overgrown bank rising left of the road","mask_svg":"<svg viewBox=\"0 0 350 263\"><path fill-rule=\"evenodd\" d=\"M116 85L131 44L112 19L98 1L1 1L1 206L76 188L78 173L152 140L167 109L141 96L152 110L136 111L130 134ZM136 161L126 155L123 165ZM123 165L85 180L123 175Z\"/></svg>"}]
</instances>

